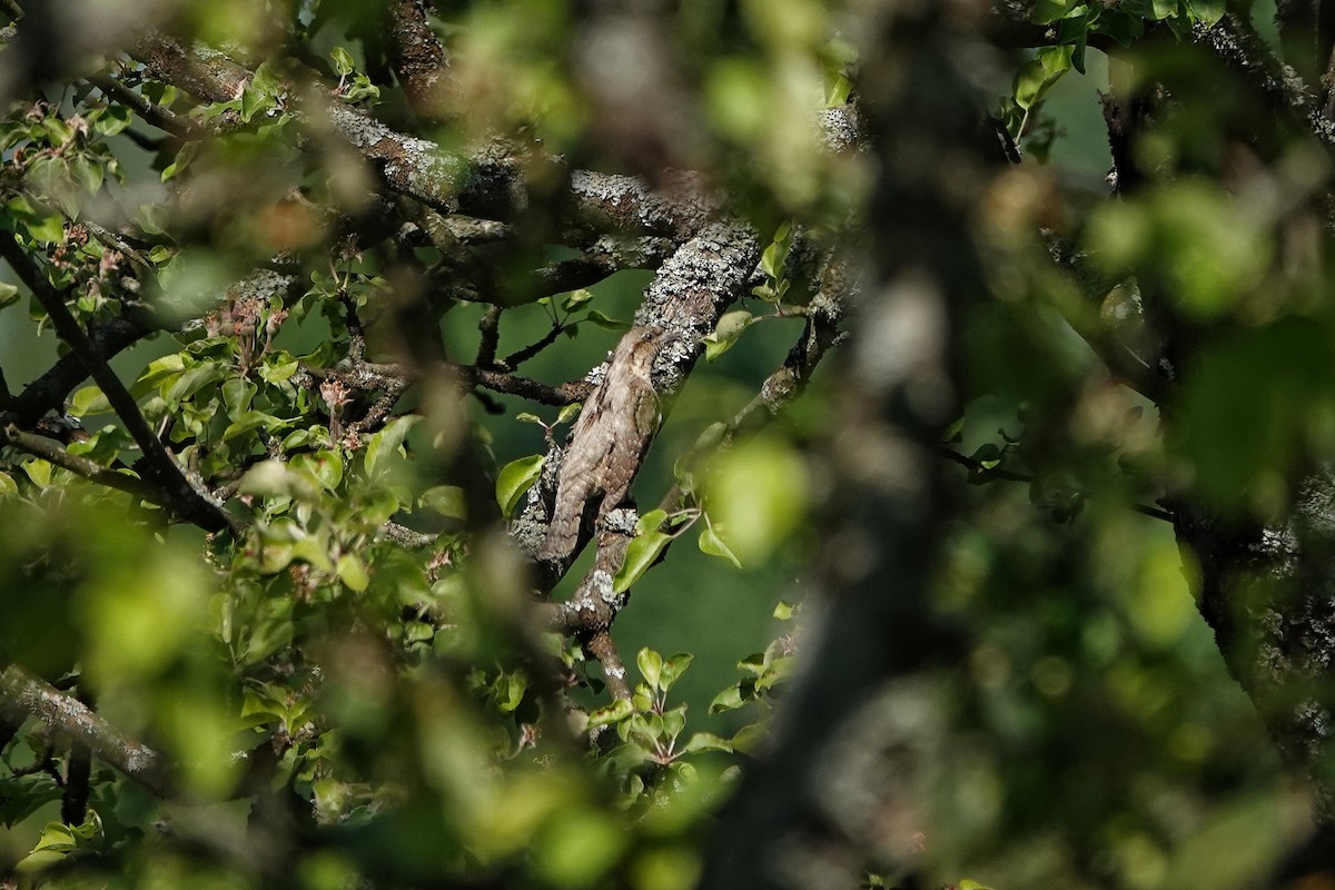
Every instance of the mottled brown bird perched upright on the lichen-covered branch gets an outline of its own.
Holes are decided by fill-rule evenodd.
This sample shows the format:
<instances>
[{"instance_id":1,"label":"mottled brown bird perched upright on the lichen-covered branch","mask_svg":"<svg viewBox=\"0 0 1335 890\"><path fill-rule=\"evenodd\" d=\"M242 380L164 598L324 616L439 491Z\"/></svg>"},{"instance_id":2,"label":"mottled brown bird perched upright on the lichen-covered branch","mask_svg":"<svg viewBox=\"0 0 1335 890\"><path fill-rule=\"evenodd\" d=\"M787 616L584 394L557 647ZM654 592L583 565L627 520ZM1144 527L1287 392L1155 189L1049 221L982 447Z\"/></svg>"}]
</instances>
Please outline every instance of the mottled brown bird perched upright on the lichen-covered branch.
<instances>
[{"instance_id":1,"label":"mottled brown bird perched upright on the lichen-covered branch","mask_svg":"<svg viewBox=\"0 0 1335 890\"><path fill-rule=\"evenodd\" d=\"M635 327L617 344L602 383L589 396L570 434L541 559L570 556L585 522L607 515L630 492L658 431L658 395L649 371L668 339L672 335L662 328Z\"/></svg>"}]
</instances>

